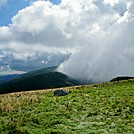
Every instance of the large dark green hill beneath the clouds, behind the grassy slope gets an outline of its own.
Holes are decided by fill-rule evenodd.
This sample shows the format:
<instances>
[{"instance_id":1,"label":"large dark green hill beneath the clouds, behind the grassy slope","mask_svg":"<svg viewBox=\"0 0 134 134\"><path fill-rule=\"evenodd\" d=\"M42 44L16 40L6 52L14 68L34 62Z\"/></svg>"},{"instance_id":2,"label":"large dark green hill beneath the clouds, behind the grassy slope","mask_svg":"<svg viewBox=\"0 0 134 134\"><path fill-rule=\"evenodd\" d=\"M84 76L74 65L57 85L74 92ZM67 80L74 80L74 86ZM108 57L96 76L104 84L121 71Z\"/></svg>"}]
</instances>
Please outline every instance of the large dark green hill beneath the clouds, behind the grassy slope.
<instances>
[{"instance_id":1,"label":"large dark green hill beneath the clouds, behind the grassy slope","mask_svg":"<svg viewBox=\"0 0 134 134\"><path fill-rule=\"evenodd\" d=\"M31 71L0 84L0 93L11 93L37 89L48 89L78 85L79 82L50 67Z\"/></svg>"}]
</instances>

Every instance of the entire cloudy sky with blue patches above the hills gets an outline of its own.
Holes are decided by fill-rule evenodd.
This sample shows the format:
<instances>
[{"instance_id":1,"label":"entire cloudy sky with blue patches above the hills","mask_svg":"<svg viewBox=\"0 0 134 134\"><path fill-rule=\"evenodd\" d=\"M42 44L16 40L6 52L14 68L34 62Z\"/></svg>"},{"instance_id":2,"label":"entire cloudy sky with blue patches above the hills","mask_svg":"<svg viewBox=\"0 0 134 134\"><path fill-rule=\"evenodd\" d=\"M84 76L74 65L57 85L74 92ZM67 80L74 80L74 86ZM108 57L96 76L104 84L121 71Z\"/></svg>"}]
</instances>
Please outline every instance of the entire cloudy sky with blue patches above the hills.
<instances>
[{"instance_id":1,"label":"entire cloudy sky with blue patches above the hills","mask_svg":"<svg viewBox=\"0 0 134 134\"><path fill-rule=\"evenodd\" d=\"M2 0L0 74L58 65L83 81L134 76L134 1Z\"/></svg>"}]
</instances>

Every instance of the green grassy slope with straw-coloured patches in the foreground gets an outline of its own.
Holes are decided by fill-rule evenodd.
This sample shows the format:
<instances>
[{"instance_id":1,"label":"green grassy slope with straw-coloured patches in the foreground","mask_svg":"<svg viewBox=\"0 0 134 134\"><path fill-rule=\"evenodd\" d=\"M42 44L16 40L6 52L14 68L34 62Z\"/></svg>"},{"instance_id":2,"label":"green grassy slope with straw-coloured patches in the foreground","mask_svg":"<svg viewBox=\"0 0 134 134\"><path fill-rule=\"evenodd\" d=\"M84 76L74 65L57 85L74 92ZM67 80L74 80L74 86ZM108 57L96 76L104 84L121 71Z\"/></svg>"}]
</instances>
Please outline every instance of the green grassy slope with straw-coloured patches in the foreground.
<instances>
[{"instance_id":1,"label":"green grassy slope with straw-coloured patches in the foreground","mask_svg":"<svg viewBox=\"0 0 134 134\"><path fill-rule=\"evenodd\" d=\"M134 133L134 81L0 95L1 134Z\"/></svg>"}]
</instances>

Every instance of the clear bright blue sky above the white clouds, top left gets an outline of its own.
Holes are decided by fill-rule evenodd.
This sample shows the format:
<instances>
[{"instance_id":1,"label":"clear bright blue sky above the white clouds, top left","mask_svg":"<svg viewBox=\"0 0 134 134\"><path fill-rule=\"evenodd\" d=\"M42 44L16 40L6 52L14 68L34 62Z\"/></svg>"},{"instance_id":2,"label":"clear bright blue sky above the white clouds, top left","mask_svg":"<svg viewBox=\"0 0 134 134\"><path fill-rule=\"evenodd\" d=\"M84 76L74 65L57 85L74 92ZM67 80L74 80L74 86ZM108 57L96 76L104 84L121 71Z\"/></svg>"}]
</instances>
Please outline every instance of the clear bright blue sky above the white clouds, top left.
<instances>
[{"instance_id":1,"label":"clear bright blue sky above the white clouds, top left","mask_svg":"<svg viewBox=\"0 0 134 134\"><path fill-rule=\"evenodd\" d=\"M36 1L36 0L32 0ZM60 0L50 0L53 4L59 4ZM0 26L11 24L11 18L17 12L30 5L30 0L7 0L7 3L0 6Z\"/></svg>"}]
</instances>

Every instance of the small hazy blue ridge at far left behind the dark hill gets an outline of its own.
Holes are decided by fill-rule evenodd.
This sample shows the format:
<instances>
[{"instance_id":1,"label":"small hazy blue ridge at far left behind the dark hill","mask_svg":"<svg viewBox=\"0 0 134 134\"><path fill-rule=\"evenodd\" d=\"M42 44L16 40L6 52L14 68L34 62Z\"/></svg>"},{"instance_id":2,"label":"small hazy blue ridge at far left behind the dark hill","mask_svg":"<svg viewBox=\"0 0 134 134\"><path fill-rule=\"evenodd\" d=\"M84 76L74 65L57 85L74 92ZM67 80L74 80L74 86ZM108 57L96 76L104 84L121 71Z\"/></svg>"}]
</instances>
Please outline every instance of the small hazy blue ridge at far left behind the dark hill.
<instances>
[{"instance_id":1,"label":"small hazy blue ridge at far left behind the dark hill","mask_svg":"<svg viewBox=\"0 0 134 134\"><path fill-rule=\"evenodd\" d=\"M11 75L3 75L3 76L0 76L0 84L1 83L4 83L4 82L7 82L11 79L14 79L16 77L20 76L20 74L11 74Z\"/></svg>"}]
</instances>

